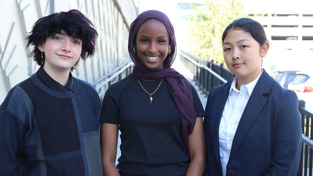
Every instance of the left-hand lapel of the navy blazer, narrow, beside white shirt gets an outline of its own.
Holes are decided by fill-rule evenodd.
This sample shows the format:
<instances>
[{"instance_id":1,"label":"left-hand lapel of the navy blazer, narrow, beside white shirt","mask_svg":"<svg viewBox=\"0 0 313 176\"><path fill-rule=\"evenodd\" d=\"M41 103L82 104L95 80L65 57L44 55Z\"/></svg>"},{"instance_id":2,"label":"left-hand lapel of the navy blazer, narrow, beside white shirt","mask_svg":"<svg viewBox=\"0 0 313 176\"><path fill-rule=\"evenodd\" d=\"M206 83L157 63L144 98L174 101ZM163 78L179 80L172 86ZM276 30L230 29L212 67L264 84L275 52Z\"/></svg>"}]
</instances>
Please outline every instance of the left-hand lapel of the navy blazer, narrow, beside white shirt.
<instances>
[{"instance_id":1,"label":"left-hand lapel of the navy blazer, narrow, beside white shirt","mask_svg":"<svg viewBox=\"0 0 313 176\"><path fill-rule=\"evenodd\" d=\"M224 106L229 96L230 85L233 79L229 80L222 88L222 91L215 97L215 101L212 107L211 113L211 132L212 132L212 142L214 153L219 168L222 168L221 156L219 154L219 139L218 139L218 129L221 122L221 117L223 114ZM222 172L222 170L220 170Z\"/></svg>"}]
</instances>

